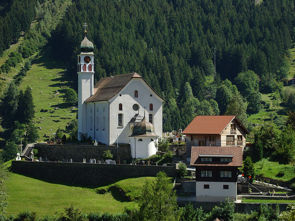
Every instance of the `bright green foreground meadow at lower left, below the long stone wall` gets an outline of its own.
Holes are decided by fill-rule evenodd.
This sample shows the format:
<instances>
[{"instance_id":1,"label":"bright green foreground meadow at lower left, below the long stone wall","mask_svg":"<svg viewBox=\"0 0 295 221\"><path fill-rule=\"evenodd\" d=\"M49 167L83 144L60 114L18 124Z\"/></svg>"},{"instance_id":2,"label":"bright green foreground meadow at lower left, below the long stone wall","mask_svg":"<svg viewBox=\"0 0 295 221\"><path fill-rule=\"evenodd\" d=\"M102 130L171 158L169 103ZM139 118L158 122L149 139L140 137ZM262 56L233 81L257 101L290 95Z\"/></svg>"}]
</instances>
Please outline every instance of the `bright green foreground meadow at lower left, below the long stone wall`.
<instances>
[{"instance_id":1,"label":"bright green foreground meadow at lower left, below the long stone wall","mask_svg":"<svg viewBox=\"0 0 295 221\"><path fill-rule=\"evenodd\" d=\"M9 166L10 164L8 164ZM120 180L112 185L123 189L130 194L138 195L145 179L154 180L154 177L141 177ZM125 207L136 207L135 202L123 199L119 192L112 189L104 194L96 193L97 188L109 189L110 185L73 186L60 182L48 182L12 173L5 182L8 205L6 216L17 215L23 210L35 211L38 215L53 215L64 212L64 207L75 204L83 212L123 212Z\"/></svg>"}]
</instances>

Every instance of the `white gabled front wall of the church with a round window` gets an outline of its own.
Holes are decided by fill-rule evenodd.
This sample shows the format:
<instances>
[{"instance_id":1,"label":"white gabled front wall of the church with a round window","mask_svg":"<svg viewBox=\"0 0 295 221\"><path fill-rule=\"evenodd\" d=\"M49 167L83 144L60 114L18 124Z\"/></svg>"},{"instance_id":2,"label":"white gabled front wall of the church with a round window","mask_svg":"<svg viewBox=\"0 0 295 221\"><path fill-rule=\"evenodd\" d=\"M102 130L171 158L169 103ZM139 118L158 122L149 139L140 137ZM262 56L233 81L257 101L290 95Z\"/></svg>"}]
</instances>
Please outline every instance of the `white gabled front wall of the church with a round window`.
<instances>
[{"instance_id":1,"label":"white gabled front wall of the church with a round window","mask_svg":"<svg viewBox=\"0 0 295 221\"><path fill-rule=\"evenodd\" d=\"M134 97L134 91L138 91L138 98ZM121 95L121 96L120 96ZM152 95L152 96L150 96ZM139 114L144 115L144 107L146 107L145 117L148 120L149 113L153 114L153 125L155 133L162 135L162 100L158 95L149 88L149 86L140 78L132 78L130 82L112 99L110 99L110 141L109 145L117 143L117 134L119 135L119 143L130 143L129 121L138 113L132 109L134 104L139 105ZM122 103L122 110L119 110L119 103ZM153 104L153 110L150 110L150 103ZM123 115L123 126L118 126L118 114ZM134 138L133 138L134 139ZM136 156L137 157L137 156ZM138 157L137 157L138 158Z\"/></svg>"}]
</instances>

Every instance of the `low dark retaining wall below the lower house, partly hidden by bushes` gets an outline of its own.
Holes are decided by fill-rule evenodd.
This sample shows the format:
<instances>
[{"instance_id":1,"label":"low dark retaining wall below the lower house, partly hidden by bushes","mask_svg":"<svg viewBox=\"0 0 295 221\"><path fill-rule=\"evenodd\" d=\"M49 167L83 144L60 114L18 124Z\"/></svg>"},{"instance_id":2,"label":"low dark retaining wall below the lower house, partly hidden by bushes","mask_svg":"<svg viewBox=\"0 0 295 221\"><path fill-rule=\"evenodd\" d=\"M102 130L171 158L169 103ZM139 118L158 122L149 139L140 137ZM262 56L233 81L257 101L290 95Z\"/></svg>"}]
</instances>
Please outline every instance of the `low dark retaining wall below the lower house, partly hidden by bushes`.
<instances>
[{"instance_id":1,"label":"low dark retaining wall below the lower house, partly hidden by bushes","mask_svg":"<svg viewBox=\"0 0 295 221\"><path fill-rule=\"evenodd\" d=\"M180 207L185 206L190 201L178 201L178 205ZM212 208L215 206L219 206L219 202L191 202L193 207L199 208L202 207L206 212L212 211ZM258 207L262 203L235 203L235 212L239 213L250 213L251 211L258 210ZM285 211L287 208L288 203L268 203L268 205L271 205L273 208L275 208L276 205L279 205L280 211Z\"/></svg>"}]
</instances>

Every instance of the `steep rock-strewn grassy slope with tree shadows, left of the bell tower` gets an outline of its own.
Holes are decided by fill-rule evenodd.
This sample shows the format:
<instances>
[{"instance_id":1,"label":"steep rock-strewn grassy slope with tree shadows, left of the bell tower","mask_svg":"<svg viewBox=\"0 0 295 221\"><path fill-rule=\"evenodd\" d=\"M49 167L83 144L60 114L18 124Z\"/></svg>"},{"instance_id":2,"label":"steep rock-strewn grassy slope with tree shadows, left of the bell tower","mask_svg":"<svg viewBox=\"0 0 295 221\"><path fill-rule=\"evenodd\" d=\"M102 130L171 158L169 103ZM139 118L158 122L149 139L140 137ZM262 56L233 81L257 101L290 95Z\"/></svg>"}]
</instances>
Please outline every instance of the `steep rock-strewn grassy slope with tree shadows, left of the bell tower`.
<instances>
[{"instance_id":1,"label":"steep rock-strewn grassy slope with tree shadows, left of the bell tower","mask_svg":"<svg viewBox=\"0 0 295 221\"><path fill-rule=\"evenodd\" d=\"M50 48L47 48L32 63L31 70L27 72L27 76L19 87L22 90L25 90L27 86L32 88L36 106L33 121L39 128L39 141L45 140L45 134L51 136L50 129L52 133L55 133L58 128L65 130L66 124L76 117L77 109L72 110L73 107L63 101L65 89L71 84L68 76L66 65L55 60L50 53ZM55 108L59 109L54 110ZM40 112L41 109L48 111Z\"/></svg>"}]
</instances>

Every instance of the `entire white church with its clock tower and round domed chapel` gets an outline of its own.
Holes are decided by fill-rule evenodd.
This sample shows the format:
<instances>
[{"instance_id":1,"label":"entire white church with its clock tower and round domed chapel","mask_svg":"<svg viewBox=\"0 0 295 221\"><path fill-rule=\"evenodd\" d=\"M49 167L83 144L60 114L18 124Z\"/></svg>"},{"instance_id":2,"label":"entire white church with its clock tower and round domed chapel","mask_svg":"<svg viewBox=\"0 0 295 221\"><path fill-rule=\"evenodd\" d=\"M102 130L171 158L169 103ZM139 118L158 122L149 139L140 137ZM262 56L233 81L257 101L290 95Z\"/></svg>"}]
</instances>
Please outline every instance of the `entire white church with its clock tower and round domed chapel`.
<instances>
[{"instance_id":1,"label":"entire white church with its clock tower and round domed chapel","mask_svg":"<svg viewBox=\"0 0 295 221\"><path fill-rule=\"evenodd\" d=\"M94 85L93 49L85 36L78 55L78 132L106 145L130 144L133 158L155 154L163 98L135 72L104 77Z\"/></svg>"}]
</instances>

